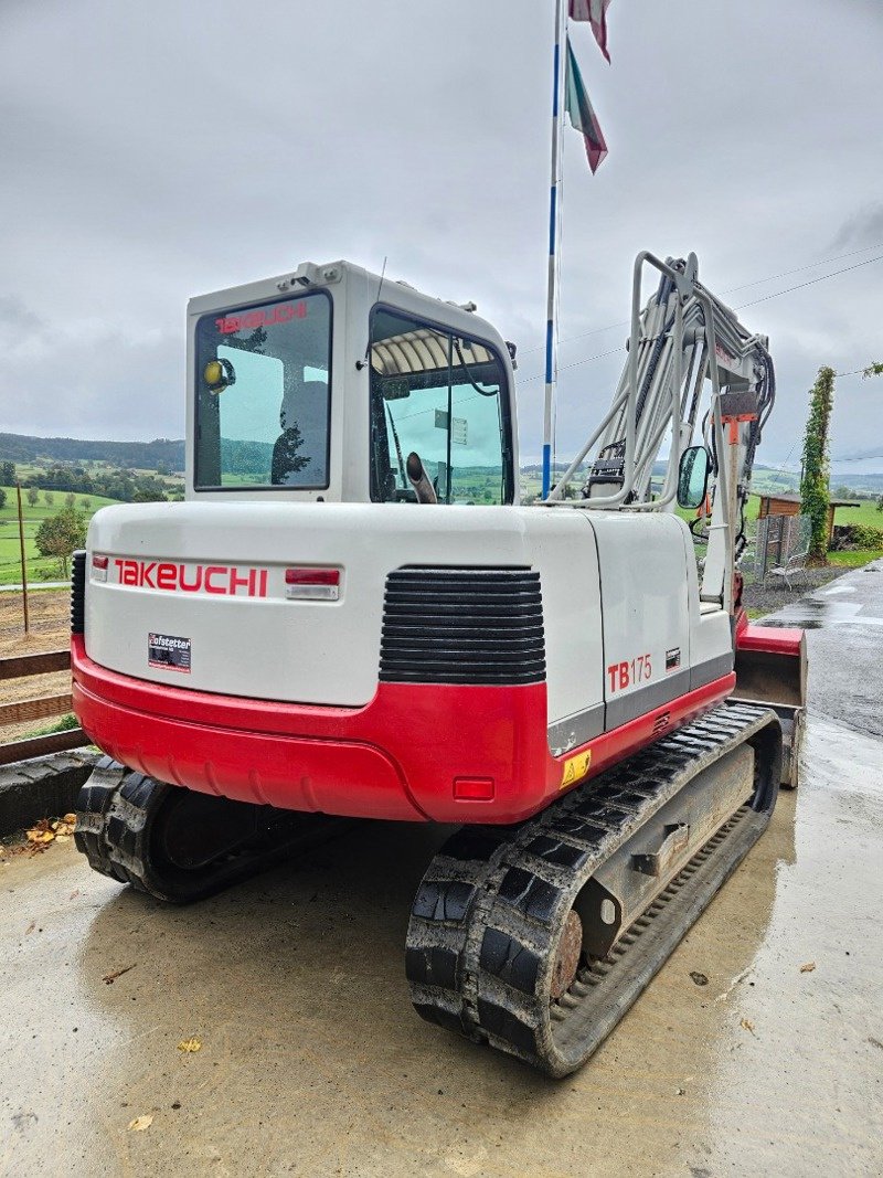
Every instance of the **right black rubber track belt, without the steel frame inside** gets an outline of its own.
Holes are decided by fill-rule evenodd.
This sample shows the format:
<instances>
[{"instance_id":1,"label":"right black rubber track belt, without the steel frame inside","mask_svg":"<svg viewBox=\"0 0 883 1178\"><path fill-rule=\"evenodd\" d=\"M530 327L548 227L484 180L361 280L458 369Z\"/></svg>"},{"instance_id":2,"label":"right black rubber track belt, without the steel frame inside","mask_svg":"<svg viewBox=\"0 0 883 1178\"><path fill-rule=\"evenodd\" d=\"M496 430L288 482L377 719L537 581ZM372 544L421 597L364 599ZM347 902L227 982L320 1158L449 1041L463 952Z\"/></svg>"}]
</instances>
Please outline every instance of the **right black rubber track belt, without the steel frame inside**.
<instances>
[{"instance_id":1,"label":"right black rubber track belt, without the steel frame inside","mask_svg":"<svg viewBox=\"0 0 883 1178\"><path fill-rule=\"evenodd\" d=\"M728 704L526 822L454 834L430 863L409 924L406 973L418 1013L551 1076L579 1067L763 833L781 739L775 713ZM552 1004L555 947L582 887L688 781L746 741L756 748L751 805Z\"/></svg>"}]
</instances>

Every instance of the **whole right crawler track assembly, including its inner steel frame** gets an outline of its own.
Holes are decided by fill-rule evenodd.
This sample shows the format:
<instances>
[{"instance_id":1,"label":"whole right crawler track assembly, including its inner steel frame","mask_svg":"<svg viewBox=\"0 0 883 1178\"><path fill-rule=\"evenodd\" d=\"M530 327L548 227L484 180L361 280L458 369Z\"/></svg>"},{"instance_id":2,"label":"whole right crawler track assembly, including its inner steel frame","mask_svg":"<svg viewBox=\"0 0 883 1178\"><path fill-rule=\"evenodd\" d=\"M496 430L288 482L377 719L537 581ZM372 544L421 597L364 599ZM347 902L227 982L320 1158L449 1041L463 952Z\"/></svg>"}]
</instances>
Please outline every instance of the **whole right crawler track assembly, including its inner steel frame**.
<instances>
[{"instance_id":1,"label":"whole right crawler track assembly, including its inner steel frame","mask_svg":"<svg viewBox=\"0 0 883 1178\"><path fill-rule=\"evenodd\" d=\"M563 1077L612 1031L769 823L782 730L725 706L430 863L406 944L426 1020Z\"/></svg>"}]
</instances>

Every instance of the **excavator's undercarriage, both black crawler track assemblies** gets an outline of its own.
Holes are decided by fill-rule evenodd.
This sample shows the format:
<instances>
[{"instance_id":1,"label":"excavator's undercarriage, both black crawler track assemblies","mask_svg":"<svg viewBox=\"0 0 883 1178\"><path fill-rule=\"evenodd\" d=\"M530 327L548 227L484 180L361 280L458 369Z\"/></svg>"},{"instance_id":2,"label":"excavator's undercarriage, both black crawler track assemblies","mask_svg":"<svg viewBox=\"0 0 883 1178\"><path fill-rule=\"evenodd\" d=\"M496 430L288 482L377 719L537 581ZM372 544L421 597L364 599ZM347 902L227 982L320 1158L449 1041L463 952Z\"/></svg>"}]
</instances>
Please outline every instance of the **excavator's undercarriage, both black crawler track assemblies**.
<instances>
[{"instance_id":1,"label":"excavator's undercarriage, both black crawler track assemblies","mask_svg":"<svg viewBox=\"0 0 883 1178\"><path fill-rule=\"evenodd\" d=\"M765 829L776 714L728 704L514 826L466 826L414 899L418 1013L553 1077L579 1067ZM341 820L195 794L104 759L77 845L112 879L177 904L308 849Z\"/></svg>"}]
</instances>

